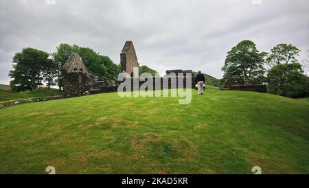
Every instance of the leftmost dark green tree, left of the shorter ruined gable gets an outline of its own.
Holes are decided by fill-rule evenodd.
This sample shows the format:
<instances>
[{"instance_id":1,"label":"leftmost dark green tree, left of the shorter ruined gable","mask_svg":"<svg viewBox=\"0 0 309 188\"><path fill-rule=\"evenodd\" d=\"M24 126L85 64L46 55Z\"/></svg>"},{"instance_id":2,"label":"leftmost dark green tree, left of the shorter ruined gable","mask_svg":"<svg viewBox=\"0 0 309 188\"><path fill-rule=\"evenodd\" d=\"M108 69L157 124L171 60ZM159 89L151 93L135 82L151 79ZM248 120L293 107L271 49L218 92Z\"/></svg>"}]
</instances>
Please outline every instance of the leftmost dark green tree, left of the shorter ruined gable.
<instances>
[{"instance_id":1,"label":"leftmost dark green tree, left of the shorter ruined gable","mask_svg":"<svg viewBox=\"0 0 309 188\"><path fill-rule=\"evenodd\" d=\"M13 57L13 70L9 76L12 79L10 86L13 91L34 91L42 84L42 71L47 64L49 54L33 48L25 48Z\"/></svg>"}]
</instances>

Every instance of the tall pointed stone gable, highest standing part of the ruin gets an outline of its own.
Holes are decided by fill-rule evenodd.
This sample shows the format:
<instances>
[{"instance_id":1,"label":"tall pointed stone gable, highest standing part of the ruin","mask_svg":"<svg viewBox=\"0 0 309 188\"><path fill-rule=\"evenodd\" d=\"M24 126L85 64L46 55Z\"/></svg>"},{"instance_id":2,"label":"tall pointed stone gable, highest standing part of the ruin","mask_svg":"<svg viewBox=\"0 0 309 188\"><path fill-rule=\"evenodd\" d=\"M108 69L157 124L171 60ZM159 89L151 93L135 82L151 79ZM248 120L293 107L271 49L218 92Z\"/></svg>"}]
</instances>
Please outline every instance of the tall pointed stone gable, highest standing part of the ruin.
<instances>
[{"instance_id":1,"label":"tall pointed stone gable, highest standing part of the ruin","mask_svg":"<svg viewBox=\"0 0 309 188\"><path fill-rule=\"evenodd\" d=\"M138 67L137 56L132 41L126 41L122 53L120 54L120 64L122 72L133 73L133 67Z\"/></svg>"}]
</instances>

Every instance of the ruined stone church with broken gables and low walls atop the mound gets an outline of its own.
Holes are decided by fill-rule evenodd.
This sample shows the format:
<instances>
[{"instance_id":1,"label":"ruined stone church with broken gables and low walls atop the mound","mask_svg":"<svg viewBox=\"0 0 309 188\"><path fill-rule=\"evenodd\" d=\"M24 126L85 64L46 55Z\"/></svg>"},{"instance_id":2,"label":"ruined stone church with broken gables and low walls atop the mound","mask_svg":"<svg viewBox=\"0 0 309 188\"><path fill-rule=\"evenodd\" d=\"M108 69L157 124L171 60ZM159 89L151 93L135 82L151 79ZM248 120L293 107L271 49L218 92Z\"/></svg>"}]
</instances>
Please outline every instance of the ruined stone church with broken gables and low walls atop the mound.
<instances>
[{"instance_id":1,"label":"ruined stone church with broken gables and low walls atop the mound","mask_svg":"<svg viewBox=\"0 0 309 188\"><path fill-rule=\"evenodd\" d=\"M195 76L192 70L168 70L163 77L139 78L138 73L134 71L134 69L138 70L139 63L132 41L126 41L120 53L120 64L121 72L126 76L123 80L115 80L114 86L109 86L108 82L99 81L97 76L87 71L82 58L77 53L71 54L62 67L64 97L115 92L127 79L130 79L130 83L135 84L131 84L131 88L126 88L124 91L135 91L145 82L152 85L150 89L153 90L195 88ZM266 92L266 85L252 84L249 80L244 80L241 77L232 77L222 87L222 90L228 89Z\"/></svg>"}]
</instances>

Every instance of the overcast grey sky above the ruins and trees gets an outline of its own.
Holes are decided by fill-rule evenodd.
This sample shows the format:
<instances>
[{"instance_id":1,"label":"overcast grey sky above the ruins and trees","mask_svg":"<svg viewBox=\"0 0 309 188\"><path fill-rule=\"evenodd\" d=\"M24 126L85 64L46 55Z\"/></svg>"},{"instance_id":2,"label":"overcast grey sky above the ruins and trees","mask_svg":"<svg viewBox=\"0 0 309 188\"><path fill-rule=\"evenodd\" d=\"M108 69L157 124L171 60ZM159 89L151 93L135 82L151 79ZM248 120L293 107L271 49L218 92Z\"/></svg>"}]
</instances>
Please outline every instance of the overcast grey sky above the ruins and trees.
<instances>
[{"instance_id":1,"label":"overcast grey sky above the ruins and trees","mask_svg":"<svg viewBox=\"0 0 309 188\"><path fill-rule=\"evenodd\" d=\"M259 1L261 3L259 3ZM216 78L227 51L253 40L260 51L279 43L309 49L308 0L0 0L0 83L25 47L90 47L119 63L132 40L139 63L201 70ZM55 2L55 3L53 3Z\"/></svg>"}]
</instances>

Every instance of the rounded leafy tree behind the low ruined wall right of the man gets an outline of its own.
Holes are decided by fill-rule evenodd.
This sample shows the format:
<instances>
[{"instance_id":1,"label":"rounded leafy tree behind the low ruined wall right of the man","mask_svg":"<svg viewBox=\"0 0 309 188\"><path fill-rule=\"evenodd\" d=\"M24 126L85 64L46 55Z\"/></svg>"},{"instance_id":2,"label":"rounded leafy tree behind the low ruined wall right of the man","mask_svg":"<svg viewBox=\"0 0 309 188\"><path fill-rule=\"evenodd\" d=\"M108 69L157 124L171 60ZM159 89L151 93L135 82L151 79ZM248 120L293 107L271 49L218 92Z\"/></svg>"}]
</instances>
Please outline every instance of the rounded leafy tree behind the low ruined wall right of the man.
<instances>
[{"instance_id":1,"label":"rounded leafy tree behind the low ruined wall right of the man","mask_svg":"<svg viewBox=\"0 0 309 188\"><path fill-rule=\"evenodd\" d=\"M240 75L255 82L262 82L266 55L266 52L258 51L251 40L242 40L227 53L225 65L222 67L223 80L233 75Z\"/></svg>"}]
</instances>

